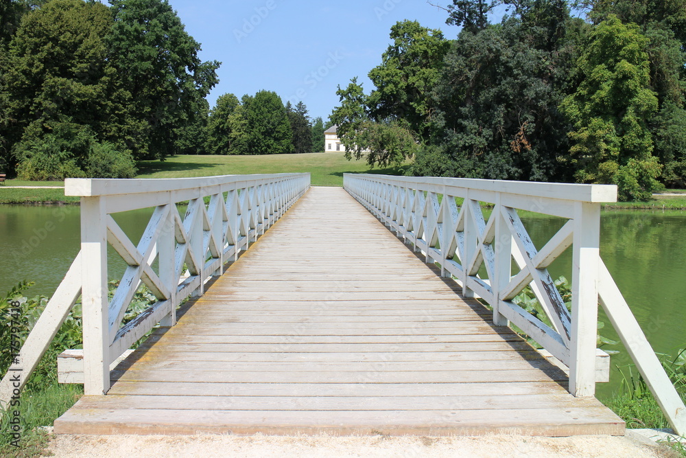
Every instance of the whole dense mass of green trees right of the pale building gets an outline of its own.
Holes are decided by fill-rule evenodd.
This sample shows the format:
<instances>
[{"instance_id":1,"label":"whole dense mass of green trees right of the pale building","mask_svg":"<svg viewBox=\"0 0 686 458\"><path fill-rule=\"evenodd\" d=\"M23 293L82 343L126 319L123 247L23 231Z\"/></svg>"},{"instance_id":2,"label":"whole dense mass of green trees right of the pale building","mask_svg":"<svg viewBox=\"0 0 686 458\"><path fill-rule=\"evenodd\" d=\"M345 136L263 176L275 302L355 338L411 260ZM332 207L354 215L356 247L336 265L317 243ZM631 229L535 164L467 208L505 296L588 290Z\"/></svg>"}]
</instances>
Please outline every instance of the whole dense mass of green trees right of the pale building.
<instances>
[{"instance_id":1,"label":"whole dense mass of green trees right of the pale building","mask_svg":"<svg viewBox=\"0 0 686 458\"><path fill-rule=\"evenodd\" d=\"M510 14L489 24L490 9ZM339 87L348 154L410 174L686 185L686 0L454 0L439 30L403 21L369 78ZM577 10L579 12L579 10Z\"/></svg>"}]
</instances>

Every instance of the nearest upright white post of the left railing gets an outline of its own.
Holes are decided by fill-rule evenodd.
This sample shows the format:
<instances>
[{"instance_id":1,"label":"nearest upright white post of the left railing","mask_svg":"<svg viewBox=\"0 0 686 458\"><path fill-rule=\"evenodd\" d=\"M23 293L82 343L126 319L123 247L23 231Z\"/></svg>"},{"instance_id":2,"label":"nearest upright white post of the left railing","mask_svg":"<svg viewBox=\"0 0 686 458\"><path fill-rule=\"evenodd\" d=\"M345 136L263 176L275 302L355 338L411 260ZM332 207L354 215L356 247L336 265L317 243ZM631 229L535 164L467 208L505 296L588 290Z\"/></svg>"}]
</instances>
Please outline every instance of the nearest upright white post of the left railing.
<instances>
[{"instance_id":1,"label":"nearest upright white post of the left railing","mask_svg":"<svg viewBox=\"0 0 686 458\"><path fill-rule=\"evenodd\" d=\"M107 297L107 214L104 197L81 198L81 276L84 337L84 392L110 389Z\"/></svg>"}]
</instances>

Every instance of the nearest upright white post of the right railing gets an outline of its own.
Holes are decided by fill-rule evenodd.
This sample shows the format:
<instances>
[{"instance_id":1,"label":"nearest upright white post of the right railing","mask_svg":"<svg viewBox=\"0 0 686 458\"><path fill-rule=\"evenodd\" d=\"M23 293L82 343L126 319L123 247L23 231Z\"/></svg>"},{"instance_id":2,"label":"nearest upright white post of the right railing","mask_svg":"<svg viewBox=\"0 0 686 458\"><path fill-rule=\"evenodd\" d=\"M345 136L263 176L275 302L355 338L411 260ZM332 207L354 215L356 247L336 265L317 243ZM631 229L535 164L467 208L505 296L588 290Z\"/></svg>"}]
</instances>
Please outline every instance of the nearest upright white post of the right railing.
<instances>
[{"instance_id":1,"label":"nearest upright white post of the right railing","mask_svg":"<svg viewBox=\"0 0 686 458\"><path fill-rule=\"evenodd\" d=\"M594 396L600 204L576 203L573 219L569 392L574 396Z\"/></svg>"}]
</instances>

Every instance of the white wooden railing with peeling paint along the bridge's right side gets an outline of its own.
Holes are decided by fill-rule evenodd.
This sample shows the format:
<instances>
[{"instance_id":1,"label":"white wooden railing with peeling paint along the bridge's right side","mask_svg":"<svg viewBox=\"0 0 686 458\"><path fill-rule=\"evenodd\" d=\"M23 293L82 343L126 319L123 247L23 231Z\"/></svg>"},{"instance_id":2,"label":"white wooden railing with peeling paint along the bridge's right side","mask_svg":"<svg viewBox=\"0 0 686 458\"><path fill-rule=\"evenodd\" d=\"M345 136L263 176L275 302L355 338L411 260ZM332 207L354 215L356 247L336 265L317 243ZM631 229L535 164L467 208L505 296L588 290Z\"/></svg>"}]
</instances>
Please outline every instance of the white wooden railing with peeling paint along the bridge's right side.
<instances>
[{"instance_id":1,"label":"white wooden railing with peeling paint along the bridge's right side","mask_svg":"<svg viewBox=\"0 0 686 458\"><path fill-rule=\"evenodd\" d=\"M514 323L567 365L575 396L595 394L600 300L670 424L686 434L686 408L600 259L600 203L617 200L614 185L344 174L344 187L464 296L488 302L496 325ZM493 206L488 218L480 202ZM537 250L518 209L567 221ZM570 247L571 314L547 271ZM528 285L552 327L512 302Z\"/></svg>"}]
</instances>

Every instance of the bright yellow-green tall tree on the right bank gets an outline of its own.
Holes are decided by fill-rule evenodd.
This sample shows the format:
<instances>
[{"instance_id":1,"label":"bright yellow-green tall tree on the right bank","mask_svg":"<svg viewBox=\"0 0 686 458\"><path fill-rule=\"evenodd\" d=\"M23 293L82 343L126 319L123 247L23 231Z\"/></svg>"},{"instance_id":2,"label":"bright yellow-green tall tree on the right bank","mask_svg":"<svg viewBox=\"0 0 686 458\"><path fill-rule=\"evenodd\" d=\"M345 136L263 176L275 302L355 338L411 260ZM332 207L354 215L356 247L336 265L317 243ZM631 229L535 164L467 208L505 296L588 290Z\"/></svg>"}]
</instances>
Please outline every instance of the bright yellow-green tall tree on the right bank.
<instances>
[{"instance_id":1,"label":"bright yellow-green tall tree on the right bank","mask_svg":"<svg viewBox=\"0 0 686 458\"><path fill-rule=\"evenodd\" d=\"M637 25L610 15L591 32L578 60L582 81L560 105L573 124L576 179L615 183L623 200L650 198L659 188L648 128L658 100L649 87L647 47Z\"/></svg>"}]
</instances>

